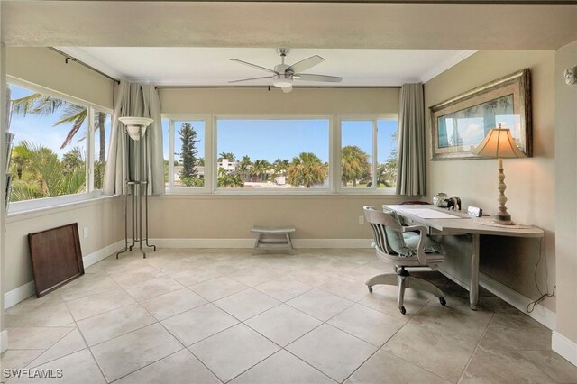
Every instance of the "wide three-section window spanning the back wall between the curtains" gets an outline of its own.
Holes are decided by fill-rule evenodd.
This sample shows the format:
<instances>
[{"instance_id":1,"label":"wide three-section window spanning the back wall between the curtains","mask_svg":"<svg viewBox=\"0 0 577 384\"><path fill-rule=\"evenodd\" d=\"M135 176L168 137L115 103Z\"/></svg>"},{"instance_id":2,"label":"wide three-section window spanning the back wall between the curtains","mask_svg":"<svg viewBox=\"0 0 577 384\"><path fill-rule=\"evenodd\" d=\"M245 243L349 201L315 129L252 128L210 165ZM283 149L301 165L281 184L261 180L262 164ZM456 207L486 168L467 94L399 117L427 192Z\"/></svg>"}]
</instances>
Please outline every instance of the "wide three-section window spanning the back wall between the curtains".
<instances>
[{"instance_id":1,"label":"wide three-section window spanning the back wall between the curtains","mask_svg":"<svg viewBox=\"0 0 577 384\"><path fill-rule=\"evenodd\" d=\"M169 193L395 192L396 116L167 115L162 126Z\"/></svg>"}]
</instances>

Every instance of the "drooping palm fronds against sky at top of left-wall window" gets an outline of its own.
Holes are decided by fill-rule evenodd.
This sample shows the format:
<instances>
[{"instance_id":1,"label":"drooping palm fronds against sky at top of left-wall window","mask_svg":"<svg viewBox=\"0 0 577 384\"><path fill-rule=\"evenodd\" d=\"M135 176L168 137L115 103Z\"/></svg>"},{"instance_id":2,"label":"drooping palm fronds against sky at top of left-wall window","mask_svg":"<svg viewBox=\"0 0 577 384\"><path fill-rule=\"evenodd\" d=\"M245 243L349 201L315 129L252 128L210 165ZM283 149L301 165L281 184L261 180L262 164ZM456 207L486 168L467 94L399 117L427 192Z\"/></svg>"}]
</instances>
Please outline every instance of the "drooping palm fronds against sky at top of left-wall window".
<instances>
[{"instance_id":1,"label":"drooping palm fronds against sky at top of left-wall window","mask_svg":"<svg viewBox=\"0 0 577 384\"><path fill-rule=\"evenodd\" d=\"M54 123L54 126L61 124L72 124L69 133L64 138L64 141L60 145L60 149L63 149L70 142L74 136L78 133L82 124L87 119L87 108L81 105L76 105L69 103L68 101L61 100L57 97L42 95L41 93L34 93L29 96L23 96L12 101L12 111L11 114L18 114L25 116L26 114L39 114L43 116L48 116L50 114L55 114L57 111L61 110L59 120ZM96 114L95 128L99 133L100 148L98 160L105 163L106 160L106 133L105 133L105 120L106 114L98 112ZM81 138L82 140L84 138Z\"/></svg>"}]
</instances>

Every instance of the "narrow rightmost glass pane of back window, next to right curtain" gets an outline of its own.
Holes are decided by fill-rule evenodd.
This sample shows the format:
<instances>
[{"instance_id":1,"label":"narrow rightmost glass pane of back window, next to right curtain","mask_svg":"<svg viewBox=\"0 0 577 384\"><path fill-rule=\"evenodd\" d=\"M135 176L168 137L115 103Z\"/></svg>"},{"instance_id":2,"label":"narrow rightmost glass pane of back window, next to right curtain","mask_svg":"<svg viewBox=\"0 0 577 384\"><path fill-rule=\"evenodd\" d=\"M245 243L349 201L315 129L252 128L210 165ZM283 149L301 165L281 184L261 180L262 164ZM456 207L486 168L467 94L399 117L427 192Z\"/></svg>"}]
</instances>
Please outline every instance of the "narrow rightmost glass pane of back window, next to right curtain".
<instances>
[{"instance_id":1,"label":"narrow rightmost glass pane of back window, next to right curtain","mask_svg":"<svg viewBox=\"0 0 577 384\"><path fill-rule=\"evenodd\" d=\"M397 120L377 120L379 187L393 188L397 182L397 127Z\"/></svg>"}]
</instances>

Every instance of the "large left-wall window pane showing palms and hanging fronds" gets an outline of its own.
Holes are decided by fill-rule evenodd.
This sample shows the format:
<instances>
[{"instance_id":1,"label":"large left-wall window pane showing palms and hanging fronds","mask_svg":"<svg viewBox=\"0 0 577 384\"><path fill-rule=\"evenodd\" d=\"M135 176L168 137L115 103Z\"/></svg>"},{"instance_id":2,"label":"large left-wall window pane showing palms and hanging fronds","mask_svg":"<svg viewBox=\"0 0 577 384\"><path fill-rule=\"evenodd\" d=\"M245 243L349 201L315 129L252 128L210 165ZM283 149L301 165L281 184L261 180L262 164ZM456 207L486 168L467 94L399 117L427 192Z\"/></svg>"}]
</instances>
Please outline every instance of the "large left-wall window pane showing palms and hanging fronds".
<instances>
[{"instance_id":1,"label":"large left-wall window pane showing palms and hanging fronds","mask_svg":"<svg viewBox=\"0 0 577 384\"><path fill-rule=\"evenodd\" d=\"M10 85L11 201L86 192L87 108Z\"/></svg>"}]
</instances>

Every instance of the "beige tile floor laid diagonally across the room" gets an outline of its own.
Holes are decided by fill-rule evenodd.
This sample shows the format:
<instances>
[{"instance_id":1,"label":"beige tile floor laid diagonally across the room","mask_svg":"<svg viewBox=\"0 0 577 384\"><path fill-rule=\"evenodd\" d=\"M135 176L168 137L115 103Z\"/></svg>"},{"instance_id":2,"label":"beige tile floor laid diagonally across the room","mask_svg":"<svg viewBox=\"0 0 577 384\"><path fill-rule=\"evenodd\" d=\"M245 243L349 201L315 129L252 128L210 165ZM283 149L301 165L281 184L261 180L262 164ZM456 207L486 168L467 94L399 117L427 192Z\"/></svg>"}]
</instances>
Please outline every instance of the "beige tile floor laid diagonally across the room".
<instances>
[{"instance_id":1,"label":"beige tile floor laid diagonally across the room","mask_svg":"<svg viewBox=\"0 0 577 384\"><path fill-rule=\"evenodd\" d=\"M68 383L577 382L551 331L481 290L478 311L439 273L447 306L363 282L371 250L159 250L109 257L5 312L3 381ZM6 369L62 370L60 379Z\"/></svg>"}]
</instances>

